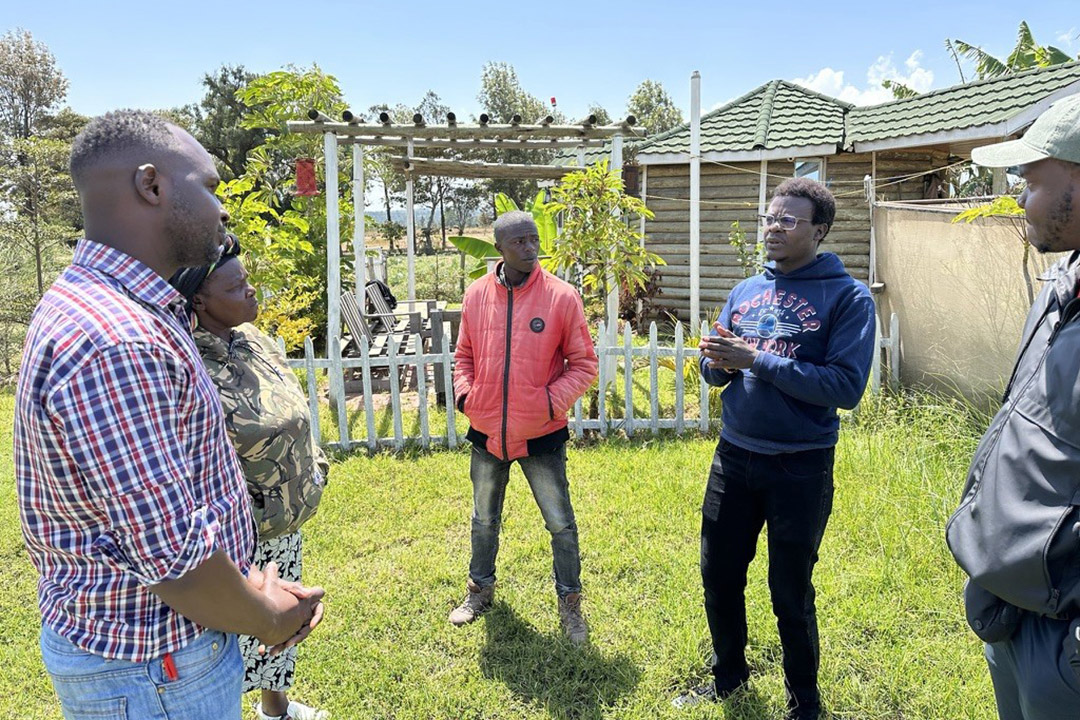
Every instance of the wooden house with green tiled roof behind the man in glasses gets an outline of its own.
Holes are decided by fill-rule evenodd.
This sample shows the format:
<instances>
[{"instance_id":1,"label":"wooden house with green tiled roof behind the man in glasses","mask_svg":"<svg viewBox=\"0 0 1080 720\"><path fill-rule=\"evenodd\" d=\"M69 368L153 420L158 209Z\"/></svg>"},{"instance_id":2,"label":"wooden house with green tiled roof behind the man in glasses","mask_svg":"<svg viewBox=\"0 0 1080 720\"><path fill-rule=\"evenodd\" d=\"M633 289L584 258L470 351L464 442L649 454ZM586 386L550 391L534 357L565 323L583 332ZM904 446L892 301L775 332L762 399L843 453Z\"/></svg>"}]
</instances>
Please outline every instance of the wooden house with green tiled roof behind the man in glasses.
<instances>
[{"instance_id":1,"label":"wooden house with green tiled roof behind the man in glasses","mask_svg":"<svg viewBox=\"0 0 1080 720\"><path fill-rule=\"evenodd\" d=\"M947 171L971 149L1016 137L1052 103L1080 93L1080 62L856 107L773 80L701 118L700 308L708 314L742 280L728 244L732 223L753 241L777 185L806 176L825 182L837 216L823 249L856 279L870 279L870 209L887 201L940 198ZM637 142L639 191L654 218L646 244L661 268L661 310L690 308L690 127ZM1002 176L1003 179L1003 176Z\"/></svg>"}]
</instances>

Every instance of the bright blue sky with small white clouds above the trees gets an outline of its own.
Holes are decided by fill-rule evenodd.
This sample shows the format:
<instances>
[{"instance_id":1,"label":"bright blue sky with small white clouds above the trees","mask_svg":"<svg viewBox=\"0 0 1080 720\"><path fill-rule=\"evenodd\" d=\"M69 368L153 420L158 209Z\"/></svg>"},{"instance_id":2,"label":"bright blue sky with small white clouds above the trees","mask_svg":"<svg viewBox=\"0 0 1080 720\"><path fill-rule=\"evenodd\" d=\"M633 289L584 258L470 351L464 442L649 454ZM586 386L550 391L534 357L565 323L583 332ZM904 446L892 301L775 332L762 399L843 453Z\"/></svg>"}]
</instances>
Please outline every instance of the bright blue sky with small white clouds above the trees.
<instances>
[{"instance_id":1,"label":"bright blue sky with small white clouds above the trees","mask_svg":"<svg viewBox=\"0 0 1080 720\"><path fill-rule=\"evenodd\" d=\"M510 63L522 85L571 118L613 116L646 79L687 112L691 71L704 110L772 79L865 104L882 78L918 90L959 74L946 38L1003 56L1026 19L1036 39L1080 53L1076 0L1002 2L279 2L96 3L0 0L0 31L30 30L70 81L84 114L197 101L221 64L269 71L318 63L350 106L415 105L428 90L459 117L478 112L481 69Z\"/></svg>"}]
</instances>

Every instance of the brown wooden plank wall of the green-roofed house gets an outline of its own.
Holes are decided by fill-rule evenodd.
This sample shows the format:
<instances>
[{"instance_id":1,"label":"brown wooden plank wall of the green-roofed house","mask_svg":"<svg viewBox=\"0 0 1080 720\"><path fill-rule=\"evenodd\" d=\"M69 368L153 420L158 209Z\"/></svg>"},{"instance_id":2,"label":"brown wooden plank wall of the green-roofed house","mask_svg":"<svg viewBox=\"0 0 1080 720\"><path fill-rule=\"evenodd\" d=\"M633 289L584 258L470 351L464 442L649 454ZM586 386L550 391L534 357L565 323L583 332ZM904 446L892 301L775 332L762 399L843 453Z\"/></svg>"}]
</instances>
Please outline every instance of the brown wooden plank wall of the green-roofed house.
<instances>
[{"instance_id":1,"label":"brown wooden plank wall of the green-roofed house","mask_svg":"<svg viewBox=\"0 0 1080 720\"><path fill-rule=\"evenodd\" d=\"M879 152L879 200L916 200L923 196L923 178L906 177L947 163L944 152ZM738 221L750 241L757 236L759 163L701 164L701 299L704 314L719 310L728 293L742 279L734 248L728 244L731 223ZM836 253L856 280L869 277L870 215L863 178L872 171L869 153L845 153L826 159L825 180L836 195L836 222L822 249ZM766 199L784 178L794 175L794 163L770 161ZM667 262L660 268L661 294L652 300L658 315L690 315L690 175L689 165L650 165L646 203L656 218L645 223L646 247Z\"/></svg>"}]
</instances>

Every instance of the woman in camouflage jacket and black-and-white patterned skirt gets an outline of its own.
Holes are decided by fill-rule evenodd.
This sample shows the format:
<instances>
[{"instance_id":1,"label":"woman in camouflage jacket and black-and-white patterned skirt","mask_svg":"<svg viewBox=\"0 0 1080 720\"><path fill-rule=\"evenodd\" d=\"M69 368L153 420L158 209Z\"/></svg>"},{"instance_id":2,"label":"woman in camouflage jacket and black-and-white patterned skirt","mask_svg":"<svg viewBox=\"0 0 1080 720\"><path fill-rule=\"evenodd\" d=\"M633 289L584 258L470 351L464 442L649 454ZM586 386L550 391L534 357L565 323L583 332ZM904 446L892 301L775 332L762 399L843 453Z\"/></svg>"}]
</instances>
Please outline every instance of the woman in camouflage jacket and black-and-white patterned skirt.
<instances>
[{"instance_id":1,"label":"woman in camouflage jacket and black-and-white patterned skirt","mask_svg":"<svg viewBox=\"0 0 1080 720\"><path fill-rule=\"evenodd\" d=\"M230 236L213 266L177 273L174 287L189 303L199 353L221 397L229 438L240 457L259 542L254 565L278 565L282 579L299 582L300 526L319 506L329 467L311 433L311 413L300 383L276 343L251 323L258 314L255 288ZM258 640L241 637L244 692L260 690L259 720L324 720L328 715L289 702L296 648L271 657Z\"/></svg>"}]
</instances>

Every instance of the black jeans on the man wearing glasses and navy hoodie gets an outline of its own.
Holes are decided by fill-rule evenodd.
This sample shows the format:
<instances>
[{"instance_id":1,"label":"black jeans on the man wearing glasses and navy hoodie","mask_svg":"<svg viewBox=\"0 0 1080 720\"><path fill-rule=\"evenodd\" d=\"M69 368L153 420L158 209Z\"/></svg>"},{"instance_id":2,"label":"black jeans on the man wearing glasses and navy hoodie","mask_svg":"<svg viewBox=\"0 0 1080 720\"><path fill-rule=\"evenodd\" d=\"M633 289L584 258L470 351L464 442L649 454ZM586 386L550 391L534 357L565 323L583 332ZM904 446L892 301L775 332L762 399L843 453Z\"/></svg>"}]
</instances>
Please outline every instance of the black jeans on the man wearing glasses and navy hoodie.
<instances>
[{"instance_id":1,"label":"black jeans on the man wearing glasses and navy hoodie","mask_svg":"<svg viewBox=\"0 0 1080 720\"><path fill-rule=\"evenodd\" d=\"M833 510L833 448L762 454L725 439L716 446L701 508L701 579L719 692L750 677L744 590L765 525L788 704L820 705L811 574Z\"/></svg>"}]
</instances>

